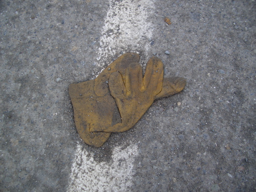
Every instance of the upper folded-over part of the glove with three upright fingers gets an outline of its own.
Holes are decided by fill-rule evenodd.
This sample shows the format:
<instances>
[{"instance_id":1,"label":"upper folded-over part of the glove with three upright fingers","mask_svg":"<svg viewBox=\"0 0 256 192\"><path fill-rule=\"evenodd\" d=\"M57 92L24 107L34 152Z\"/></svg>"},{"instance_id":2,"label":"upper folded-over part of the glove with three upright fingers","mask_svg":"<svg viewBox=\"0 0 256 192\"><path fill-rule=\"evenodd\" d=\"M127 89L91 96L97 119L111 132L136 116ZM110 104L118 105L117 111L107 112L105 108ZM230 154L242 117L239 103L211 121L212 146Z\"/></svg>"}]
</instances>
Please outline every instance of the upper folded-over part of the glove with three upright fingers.
<instances>
[{"instance_id":1,"label":"upper folded-over part of the glove with three upright fingers","mask_svg":"<svg viewBox=\"0 0 256 192\"><path fill-rule=\"evenodd\" d=\"M164 68L162 61L152 57L146 64L146 73L142 78L142 68L138 63L131 63L125 76L119 72L110 74L110 93L115 98L122 122L113 126L91 126L90 132L124 132L132 128L144 115L162 90Z\"/></svg>"}]
</instances>

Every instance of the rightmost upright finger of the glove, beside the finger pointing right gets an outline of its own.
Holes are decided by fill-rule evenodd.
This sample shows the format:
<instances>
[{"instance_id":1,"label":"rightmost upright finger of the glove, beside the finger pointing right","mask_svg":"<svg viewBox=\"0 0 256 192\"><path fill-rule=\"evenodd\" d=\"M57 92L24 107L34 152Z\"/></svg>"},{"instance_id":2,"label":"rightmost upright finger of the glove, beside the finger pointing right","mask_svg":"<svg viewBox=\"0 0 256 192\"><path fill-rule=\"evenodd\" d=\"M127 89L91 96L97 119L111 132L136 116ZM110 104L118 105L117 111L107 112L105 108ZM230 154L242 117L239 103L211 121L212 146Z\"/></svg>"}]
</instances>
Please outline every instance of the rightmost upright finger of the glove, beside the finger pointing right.
<instances>
[{"instance_id":1,"label":"rightmost upright finger of the glove, beside the finger pointing right","mask_svg":"<svg viewBox=\"0 0 256 192\"><path fill-rule=\"evenodd\" d=\"M158 94L162 90L164 77L163 62L157 57L151 57L146 64L143 84L149 94Z\"/></svg>"}]
</instances>

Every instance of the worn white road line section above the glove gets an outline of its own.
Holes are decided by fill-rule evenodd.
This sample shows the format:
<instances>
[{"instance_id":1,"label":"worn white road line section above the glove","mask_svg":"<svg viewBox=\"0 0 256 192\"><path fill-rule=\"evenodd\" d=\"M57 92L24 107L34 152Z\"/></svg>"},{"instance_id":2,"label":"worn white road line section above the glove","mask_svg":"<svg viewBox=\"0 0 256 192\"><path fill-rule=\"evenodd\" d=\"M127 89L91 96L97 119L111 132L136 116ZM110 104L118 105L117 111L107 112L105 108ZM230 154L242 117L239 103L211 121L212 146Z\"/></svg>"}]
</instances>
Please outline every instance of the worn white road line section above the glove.
<instances>
[{"instance_id":1,"label":"worn white road line section above the glove","mask_svg":"<svg viewBox=\"0 0 256 192\"><path fill-rule=\"evenodd\" d=\"M98 52L98 67L110 56L124 49L129 52L147 51L152 38L153 24L146 21L154 12L152 0L110 0L110 8L102 28ZM144 43L147 41L147 43ZM102 69L103 70L103 69Z\"/></svg>"}]
</instances>

